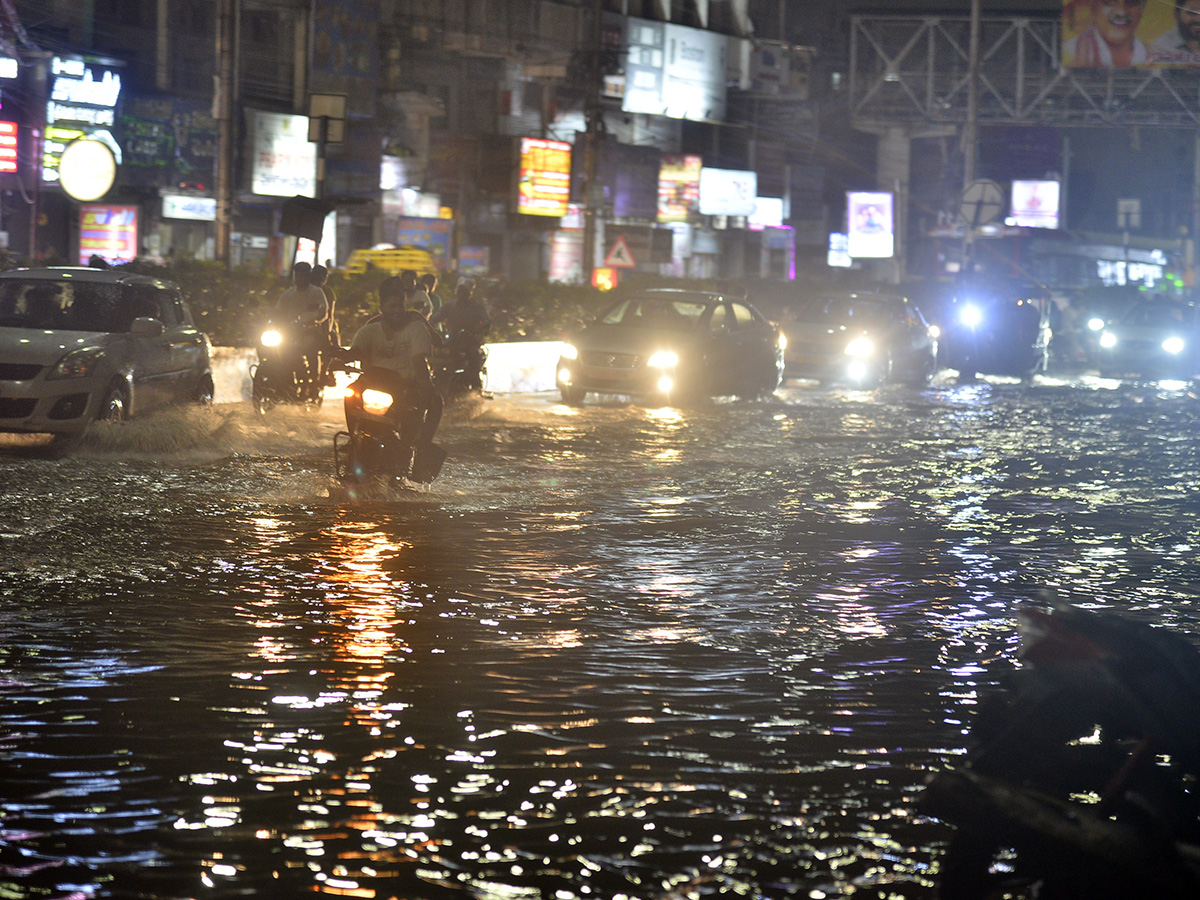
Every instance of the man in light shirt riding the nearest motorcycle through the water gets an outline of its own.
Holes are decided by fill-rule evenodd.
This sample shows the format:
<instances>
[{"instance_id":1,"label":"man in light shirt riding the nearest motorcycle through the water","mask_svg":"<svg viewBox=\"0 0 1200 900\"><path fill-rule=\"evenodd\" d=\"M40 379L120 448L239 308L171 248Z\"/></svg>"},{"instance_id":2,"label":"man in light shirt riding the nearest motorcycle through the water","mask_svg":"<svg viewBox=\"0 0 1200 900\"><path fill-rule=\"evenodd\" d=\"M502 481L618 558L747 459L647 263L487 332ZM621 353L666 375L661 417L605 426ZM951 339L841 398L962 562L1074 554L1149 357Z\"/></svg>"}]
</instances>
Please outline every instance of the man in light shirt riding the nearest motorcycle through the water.
<instances>
[{"instance_id":1,"label":"man in light shirt riding the nearest motorcycle through the water","mask_svg":"<svg viewBox=\"0 0 1200 900\"><path fill-rule=\"evenodd\" d=\"M416 448L433 443L443 410L431 368L433 331L425 314L406 308L408 296L400 278L385 278L379 286L379 317L359 329L350 349L343 353L362 362L362 389L378 388L403 398L395 403L397 415L409 406L414 410L412 418L397 422L401 436L410 442L403 446L397 464L396 474L404 478L412 472Z\"/></svg>"}]
</instances>

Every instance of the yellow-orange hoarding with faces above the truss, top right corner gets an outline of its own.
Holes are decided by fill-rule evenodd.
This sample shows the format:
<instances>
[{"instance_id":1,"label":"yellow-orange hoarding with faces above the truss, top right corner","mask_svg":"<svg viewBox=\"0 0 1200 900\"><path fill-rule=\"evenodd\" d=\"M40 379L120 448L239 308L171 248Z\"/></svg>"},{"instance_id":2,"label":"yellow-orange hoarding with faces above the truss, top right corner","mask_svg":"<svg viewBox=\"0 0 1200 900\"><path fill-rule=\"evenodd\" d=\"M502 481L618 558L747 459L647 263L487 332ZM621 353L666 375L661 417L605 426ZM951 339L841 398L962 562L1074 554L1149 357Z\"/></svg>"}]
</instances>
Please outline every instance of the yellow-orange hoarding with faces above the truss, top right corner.
<instances>
[{"instance_id":1,"label":"yellow-orange hoarding with faces above the truss, top right corner","mask_svg":"<svg viewBox=\"0 0 1200 900\"><path fill-rule=\"evenodd\" d=\"M1200 0L1063 0L1062 64L1076 68L1200 65Z\"/></svg>"}]
</instances>

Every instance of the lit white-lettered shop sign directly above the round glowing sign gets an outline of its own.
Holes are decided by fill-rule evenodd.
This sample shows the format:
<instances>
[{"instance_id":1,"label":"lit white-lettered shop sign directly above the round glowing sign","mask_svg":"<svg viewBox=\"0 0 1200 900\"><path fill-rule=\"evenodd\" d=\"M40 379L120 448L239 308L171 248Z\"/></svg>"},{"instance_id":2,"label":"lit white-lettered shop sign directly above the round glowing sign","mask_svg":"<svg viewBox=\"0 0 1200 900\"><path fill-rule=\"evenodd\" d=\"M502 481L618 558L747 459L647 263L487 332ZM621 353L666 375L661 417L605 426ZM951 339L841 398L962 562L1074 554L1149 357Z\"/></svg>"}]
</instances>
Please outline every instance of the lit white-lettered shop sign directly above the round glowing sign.
<instances>
[{"instance_id":1,"label":"lit white-lettered shop sign directly above the round glowing sign","mask_svg":"<svg viewBox=\"0 0 1200 900\"><path fill-rule=\"evenodd\" d=\"M121 148L108 131L116 120L121 76L112 67L82 59L50 60L50 98L46 104L46 139L42 148L42 180L59 180L59 162L71 142L83 137L98 140L120 163Z\"/></svg>"}]
</instances>

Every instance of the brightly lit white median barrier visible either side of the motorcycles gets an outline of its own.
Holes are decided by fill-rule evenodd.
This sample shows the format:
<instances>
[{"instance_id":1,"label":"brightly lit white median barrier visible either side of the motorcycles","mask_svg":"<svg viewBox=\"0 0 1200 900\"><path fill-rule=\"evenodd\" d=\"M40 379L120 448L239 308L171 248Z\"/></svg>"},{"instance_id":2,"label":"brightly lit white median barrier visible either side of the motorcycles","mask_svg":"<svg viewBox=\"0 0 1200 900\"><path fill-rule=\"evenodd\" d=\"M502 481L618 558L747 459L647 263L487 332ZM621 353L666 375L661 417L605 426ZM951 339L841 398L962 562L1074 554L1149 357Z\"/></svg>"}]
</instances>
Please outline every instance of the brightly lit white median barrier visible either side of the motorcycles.
<instances>
[{"instance_id":1,"label":"brightly lit white median barrier visible either side of the motorcycles","mask_svg":"<svg viewBox=\"0 0 1200 900\"><path fill-rule=\"evenodd\" d=\"M487 390L497 394L554 390L554 367L560 347L559 341L487 344ZM212 384L217 403L250 400L250 367L257 360L253 348L212 348Z\"/></svg>"}]
</instances>

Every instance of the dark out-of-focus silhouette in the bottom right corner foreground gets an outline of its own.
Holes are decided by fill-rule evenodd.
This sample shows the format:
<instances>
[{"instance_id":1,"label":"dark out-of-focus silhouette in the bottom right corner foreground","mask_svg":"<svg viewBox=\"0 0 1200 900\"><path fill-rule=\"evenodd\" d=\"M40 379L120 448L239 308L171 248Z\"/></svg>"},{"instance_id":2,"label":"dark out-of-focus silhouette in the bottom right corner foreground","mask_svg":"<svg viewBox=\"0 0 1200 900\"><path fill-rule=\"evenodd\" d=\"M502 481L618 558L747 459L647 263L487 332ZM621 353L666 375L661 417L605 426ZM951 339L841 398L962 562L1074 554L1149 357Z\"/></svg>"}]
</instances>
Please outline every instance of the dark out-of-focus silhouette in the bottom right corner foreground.
<instances>
[{"instance_id":1,"label":"dark out-of-focus silhouette in the bottom right corner foreground","mask_svg":"<svg viewBox=\"0 0 1200 900\"><path fill-rule=\"evenodd\" d=\"M1021 619L1020 668L925 788L956 827L941 900L1200 896L1200 650L1068 605Z\"/></svg>"}]
</instances>

